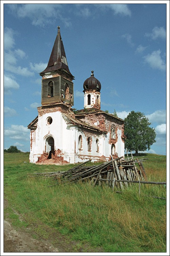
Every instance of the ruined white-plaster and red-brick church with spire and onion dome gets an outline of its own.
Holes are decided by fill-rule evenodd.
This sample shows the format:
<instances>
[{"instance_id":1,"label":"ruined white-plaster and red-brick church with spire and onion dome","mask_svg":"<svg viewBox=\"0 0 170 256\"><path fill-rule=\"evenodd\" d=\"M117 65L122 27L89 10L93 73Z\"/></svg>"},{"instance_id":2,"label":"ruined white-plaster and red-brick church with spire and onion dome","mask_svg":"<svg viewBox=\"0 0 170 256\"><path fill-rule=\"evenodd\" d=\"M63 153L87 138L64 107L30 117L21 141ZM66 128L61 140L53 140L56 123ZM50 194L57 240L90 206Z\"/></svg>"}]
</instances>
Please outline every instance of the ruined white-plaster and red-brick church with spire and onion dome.
<instances>
[{"instance_id":1,"label":"ruined white-plaster and red-brick church with spire and onion dome","mask_svg":"<svg viewBox=\"0 0 170 256\"><path fill-rule=\"evenodd\" d=\"M40 76L41 106L28 125L31 163L62 165L124 157L124 120L101 110L101 83L94 71L82 82L84 108L72 108L74 76L59 26L47 68Z\"/></svg>"}]
</instances>

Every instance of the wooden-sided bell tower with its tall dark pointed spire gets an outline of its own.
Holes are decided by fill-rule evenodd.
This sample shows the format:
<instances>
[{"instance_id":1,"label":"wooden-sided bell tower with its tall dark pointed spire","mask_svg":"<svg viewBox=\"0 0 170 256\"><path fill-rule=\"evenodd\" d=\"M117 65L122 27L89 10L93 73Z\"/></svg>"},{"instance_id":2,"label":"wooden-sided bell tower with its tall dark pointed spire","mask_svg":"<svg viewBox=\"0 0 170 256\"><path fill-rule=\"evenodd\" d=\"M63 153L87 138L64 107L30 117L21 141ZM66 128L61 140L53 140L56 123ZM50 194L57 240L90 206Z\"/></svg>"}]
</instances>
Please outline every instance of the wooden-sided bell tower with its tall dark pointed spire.
<instances>
[{"instance_id":1,"label":"wooden-sided bell tower with its tall dark pointed spire","mask_svg":"<svg viewBox=\"0 0 170 256\"><path fill-rule=\"evenodd\" d=\"M64 50L63 41L58 26L58 33L52 48L47 68L40 73L41 82L41 104L64 103L68 106L74 104L73 82Z\"/></svg>"}]
</instances>

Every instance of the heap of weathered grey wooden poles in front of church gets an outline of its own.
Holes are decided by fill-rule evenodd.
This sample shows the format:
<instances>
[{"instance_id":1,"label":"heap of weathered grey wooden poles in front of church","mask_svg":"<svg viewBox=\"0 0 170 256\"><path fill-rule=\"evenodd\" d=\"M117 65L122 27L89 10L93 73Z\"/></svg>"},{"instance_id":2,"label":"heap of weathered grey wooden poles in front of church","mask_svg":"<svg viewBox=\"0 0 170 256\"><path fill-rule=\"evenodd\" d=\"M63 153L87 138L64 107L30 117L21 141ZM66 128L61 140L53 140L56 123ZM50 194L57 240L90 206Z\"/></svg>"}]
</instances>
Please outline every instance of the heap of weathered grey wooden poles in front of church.
<instances>
[{"instance_id":1,"label":"heap of weathered grey wooden poles in front of church","mask_svg":"<svg viewBox=\"0 0 170 256\"><path fill-rule=\"evenodd\" d=\"M147 181L147 175L142 165L142 161L145 161L146 158L122 158L123 157L113 159L111 156L111 161L104 162L100 165L85 166L87 162L91 161L89 160L65 172L35 174L38 176L52 177L55 182L51 186L78 181L90 181L93 186L106 183L113 189L114 186L124 189L124 187L132 186L134 182L141 181L141 183L144 183L144 181ZM135 163L137 163L137 166Z\"/></svg>"}]
</instances>

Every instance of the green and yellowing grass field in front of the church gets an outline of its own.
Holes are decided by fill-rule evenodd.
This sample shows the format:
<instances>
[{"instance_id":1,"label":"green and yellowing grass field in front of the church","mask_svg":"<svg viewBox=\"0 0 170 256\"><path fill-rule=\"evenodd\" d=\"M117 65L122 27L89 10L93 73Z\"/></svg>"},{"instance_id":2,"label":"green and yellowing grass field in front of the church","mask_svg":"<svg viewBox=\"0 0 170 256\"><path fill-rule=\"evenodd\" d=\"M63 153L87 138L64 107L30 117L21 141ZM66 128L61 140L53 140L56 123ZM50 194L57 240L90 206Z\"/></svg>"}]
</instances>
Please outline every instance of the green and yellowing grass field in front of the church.
<instances>
[{"instance_id":1,"label":"green and yellowing grass field in front of the church","mask_svg":"<svg viewBox=\"0 0 170 256\"><path fill-rule=\"evenodd\" d=\"M166 156L146 158L148 179L166 181ZM166 200L152 197L166 198L166 186L141 184L139 196L138 184L118 194L105 185L92 187L85 182L48 187L50 178L32 176L72 166L35 165L29 163L28 153L5 153L5 216L16 228L29 226L44 239L51 235L48 227L59 231L77 241L72 252L79 246L86 252L87 243L93 252L166 252Z\"/></svg>"}]
</instances>

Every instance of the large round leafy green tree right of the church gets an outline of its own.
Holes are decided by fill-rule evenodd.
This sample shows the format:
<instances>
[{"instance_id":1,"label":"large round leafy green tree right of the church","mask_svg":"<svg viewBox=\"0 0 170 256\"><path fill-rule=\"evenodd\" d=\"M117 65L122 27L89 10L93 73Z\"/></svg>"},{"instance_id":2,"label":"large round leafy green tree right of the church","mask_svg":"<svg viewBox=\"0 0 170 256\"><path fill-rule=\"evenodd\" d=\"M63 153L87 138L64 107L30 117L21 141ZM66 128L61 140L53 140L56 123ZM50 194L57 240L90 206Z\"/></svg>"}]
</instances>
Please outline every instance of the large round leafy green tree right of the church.
<instances>
[{"instance_id":1,"label":"large round leafy green tree right of the church","mask_svg":"<svg viewBox=\"0 0 170 256\"><path fill-rule=\"evenodd\" d=\"M149 119L141 112L132 111L124 120L125 147L128 151L135 151L137 155L138 151L150 150L156 142L156 132L149 127Z\"/></svg>"}]
</instances>

